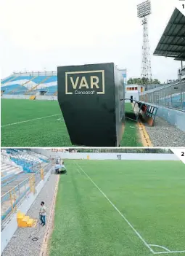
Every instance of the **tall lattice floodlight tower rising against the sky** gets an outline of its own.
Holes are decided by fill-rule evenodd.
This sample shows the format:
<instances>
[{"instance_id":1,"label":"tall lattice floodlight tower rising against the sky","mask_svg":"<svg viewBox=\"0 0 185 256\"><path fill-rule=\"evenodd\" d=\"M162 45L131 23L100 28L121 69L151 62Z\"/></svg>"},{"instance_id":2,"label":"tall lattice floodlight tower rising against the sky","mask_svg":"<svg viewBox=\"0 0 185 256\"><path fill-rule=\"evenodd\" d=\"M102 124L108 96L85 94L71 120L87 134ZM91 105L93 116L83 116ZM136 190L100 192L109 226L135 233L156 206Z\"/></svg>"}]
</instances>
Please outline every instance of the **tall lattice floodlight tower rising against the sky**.
<instances>
[{"instance_id":1,"label":"tall lattice floodlight tower rising against the sky","mask_svg":"<svg viewBox=\"0 0 185 256\"><path fill-rule=\"evenodd\" d=\"M151 14L151 2L149 0L137 5L137 15L142 19L143 47L142 47L142 71L141 78L152 79L151 58L149 50L148 17Z\"/></svg>"}]
</instances>

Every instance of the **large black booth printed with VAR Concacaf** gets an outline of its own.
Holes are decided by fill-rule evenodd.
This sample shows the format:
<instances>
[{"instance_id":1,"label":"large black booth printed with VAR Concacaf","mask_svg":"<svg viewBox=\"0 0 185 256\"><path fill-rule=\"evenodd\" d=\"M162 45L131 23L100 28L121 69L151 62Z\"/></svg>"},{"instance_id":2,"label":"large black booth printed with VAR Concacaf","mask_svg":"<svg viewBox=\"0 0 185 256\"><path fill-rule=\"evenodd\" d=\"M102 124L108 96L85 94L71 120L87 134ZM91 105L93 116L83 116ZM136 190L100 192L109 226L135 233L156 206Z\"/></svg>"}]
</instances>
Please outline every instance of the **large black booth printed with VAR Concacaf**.
<instances>
[{"instance_id":1,"label":"large black booth printed with VAR Concacaf","mask_svg":"<svg viewBox=\"0 0 185 256\"><path fill-rule=\"evenodd\" d=\"M58 101L72 144L119 147L124 82L114 63L57 68Z\"/></svg>"}]
</instances>

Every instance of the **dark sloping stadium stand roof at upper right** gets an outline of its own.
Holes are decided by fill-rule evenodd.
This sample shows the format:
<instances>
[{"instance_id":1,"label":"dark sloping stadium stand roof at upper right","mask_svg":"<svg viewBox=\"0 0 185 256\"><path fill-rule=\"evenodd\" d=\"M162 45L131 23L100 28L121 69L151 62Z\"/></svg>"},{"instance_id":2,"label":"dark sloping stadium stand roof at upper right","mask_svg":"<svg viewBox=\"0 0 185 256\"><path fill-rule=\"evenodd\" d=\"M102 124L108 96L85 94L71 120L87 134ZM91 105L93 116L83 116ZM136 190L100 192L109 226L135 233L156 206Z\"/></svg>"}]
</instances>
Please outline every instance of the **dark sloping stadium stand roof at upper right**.
<instances>
[{"instance_id":1,"label":"dark sloping stadium stand roof at upper right","mask_svg":"<svg viewBox=\"0 0 185 256\"><path fill-rule=\"evenodd\" d=\"M157 44L154 55L185 61L185 16L177 8Z\"/></svg>"}]
</instances>

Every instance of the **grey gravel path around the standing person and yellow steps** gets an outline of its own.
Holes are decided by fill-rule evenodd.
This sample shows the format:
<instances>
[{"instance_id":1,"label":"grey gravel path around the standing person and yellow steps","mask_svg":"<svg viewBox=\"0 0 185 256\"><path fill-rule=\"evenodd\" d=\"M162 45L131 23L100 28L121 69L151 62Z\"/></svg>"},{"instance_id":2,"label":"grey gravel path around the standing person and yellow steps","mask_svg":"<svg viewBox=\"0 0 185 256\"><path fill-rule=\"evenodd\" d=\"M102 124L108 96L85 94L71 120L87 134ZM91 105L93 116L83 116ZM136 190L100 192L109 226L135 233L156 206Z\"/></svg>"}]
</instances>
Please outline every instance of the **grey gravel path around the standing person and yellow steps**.
<instances>
[{"instance_id":1,"label":"grey gravel path around the standing person and yellow steps","mask_svg":"<svg viewBox=\"0 0 185 256\"><path fill-rule=\"evenodd\" d=\"M46 204L46 225L52 206L56 181L57 175L52 174L27 213L33 219L38 219L40 204L41 201L44 201ZM39 256L45 230L46 226L42 227L39 221L36 228L17 228L15 236L9 241L1 256ZM38 237L38 240L33 241L33 237Z\"/></svg>"}]
</instances>

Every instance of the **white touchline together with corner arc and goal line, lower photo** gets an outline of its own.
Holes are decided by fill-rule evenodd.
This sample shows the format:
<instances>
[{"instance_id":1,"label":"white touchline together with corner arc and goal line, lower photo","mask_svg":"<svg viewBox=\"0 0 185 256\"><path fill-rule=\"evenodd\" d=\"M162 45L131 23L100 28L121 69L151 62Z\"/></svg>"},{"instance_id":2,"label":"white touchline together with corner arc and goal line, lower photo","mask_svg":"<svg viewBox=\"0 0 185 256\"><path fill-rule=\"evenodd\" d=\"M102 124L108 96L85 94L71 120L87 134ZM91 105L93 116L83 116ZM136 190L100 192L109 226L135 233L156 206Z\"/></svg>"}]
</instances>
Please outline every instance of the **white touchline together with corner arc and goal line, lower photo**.
<instances>
[{"instance_id":1,"label":"white touchline together with corner arc and goal line, lower photo","mask_svg":"<svg viewBox=\"0 0 185 256\"><path fill-rule=\"evenodd\" d=\"M75 161L75 164L81 169L81 171L83 171L83 174L86 175L86 177L88 177L91 182L94 184L94 186L99 190L100 193L102 193L102 195L104 195L104 198L107 199L107 201L109 201L109 203L114 207L114 209L120 214L121 217L123 217L123 219L128 223L128 225L131 227L131 229L136 233L136 235L141 239L141 241L144 243L144 245L150 250L150 252L152 252L153 255L161 255L161 254L167 254L167 253L183 253L185 252L185 250L183 251L170 251L169 249L162 247L160 245L157 244L147 244L147 242L144 240L144 238L141 237L141 235L139 234L139 232L133 228L133 225L131 225L131 222L129 222L126 217L118 210L118 208L114 205L114 203L112 203L110 201L109 198L107 198L107 195L104 194L104 192L96 185L96 183L89 177L88 174L86 174L86 172L83 170L83 168L81 168L81 166L78 165L78 163ZM154 250L151 247L160 247L165 249L167 252L154 252Z\"/></svg>"}]
</instances>

